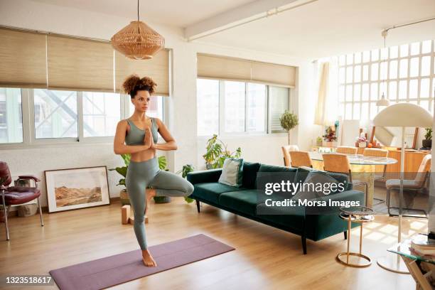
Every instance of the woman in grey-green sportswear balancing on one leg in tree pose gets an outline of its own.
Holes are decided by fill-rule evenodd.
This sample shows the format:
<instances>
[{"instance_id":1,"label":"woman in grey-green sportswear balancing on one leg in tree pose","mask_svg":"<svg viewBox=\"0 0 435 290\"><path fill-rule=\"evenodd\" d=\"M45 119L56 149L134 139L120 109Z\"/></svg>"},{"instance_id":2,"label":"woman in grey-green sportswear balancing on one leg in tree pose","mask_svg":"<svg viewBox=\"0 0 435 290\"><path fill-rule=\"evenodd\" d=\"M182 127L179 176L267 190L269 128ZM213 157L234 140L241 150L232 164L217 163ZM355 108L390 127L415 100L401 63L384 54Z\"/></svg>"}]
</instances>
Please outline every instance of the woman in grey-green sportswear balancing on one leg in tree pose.
<instances>
[{"instance_id":1,"label":"woman in grey-green sportswear balancing on one leg in tree pose","mask_svg":"<svg viewBox=\"0 0 435 290\"><path fill-rule=\"evenodd\" d=\"M156 267L146 246L144 215L149 202L154 196L188 196L193 192L193 186L181 176L159 169L156 150L176 150L177 144L160 119L146 116L156 83L149 77L131 75L123 87L134 104L134 113L129 119L119 121L114 153L131 154L125 183L134 210L134 233L145 266ZM166 143L157 144L157 132Z\"/></svg>"}]
</instances>

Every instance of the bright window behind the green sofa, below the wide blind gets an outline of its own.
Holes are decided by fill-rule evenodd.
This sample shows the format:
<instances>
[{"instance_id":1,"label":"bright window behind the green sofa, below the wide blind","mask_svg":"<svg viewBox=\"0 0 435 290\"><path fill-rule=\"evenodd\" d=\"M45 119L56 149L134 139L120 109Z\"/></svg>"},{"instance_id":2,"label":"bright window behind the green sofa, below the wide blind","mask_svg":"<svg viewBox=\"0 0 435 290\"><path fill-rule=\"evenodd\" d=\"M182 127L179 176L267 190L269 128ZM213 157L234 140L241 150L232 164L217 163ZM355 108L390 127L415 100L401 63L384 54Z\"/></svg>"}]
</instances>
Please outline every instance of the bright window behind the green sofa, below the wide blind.
<instances>
[{"instance_id":1,"label":"bright window behind the green sofa, below the wide blind","mask_svg":"<svg viewBox=\"0 0 435 290\"><path fill-rule=\"evenodd\" d=\"M252 82L197 80L198 136L284 132L290 89Z\"/></svg>"}]
</instances>

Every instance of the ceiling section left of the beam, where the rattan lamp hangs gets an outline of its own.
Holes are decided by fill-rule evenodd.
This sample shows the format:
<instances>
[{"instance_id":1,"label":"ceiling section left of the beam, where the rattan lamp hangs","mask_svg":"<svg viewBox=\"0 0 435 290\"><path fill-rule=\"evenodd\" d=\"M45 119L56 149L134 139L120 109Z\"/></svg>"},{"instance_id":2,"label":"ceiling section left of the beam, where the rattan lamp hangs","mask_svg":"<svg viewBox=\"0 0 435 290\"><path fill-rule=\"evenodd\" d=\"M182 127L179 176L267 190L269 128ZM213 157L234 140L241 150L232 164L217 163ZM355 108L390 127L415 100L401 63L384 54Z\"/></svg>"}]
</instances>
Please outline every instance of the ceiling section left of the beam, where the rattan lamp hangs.
<instances>
[{"instance_id":1,"label":"ceiling section left of the beam, where the rattan lamp hangs","mask_svg":"<svg viewBox=\"0 0 435 290\"><path fill-rule=\"evenodd\" d=\"M32 0L45 4L137 18L137 0ZM143 21L186 27L254 0L140 0L139 18Z\"/></svg>"}]
</instances>

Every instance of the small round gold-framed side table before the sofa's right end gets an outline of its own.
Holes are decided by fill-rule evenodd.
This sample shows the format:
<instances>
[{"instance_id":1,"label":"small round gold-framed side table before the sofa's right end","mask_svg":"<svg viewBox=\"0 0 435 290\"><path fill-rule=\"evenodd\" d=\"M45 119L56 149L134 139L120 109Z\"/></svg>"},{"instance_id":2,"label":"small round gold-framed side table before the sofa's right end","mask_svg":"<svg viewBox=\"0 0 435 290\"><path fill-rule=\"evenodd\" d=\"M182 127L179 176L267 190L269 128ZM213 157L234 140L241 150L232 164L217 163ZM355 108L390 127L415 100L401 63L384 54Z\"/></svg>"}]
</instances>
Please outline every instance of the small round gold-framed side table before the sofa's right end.
<instances>
[{"instance_id":1,"label":"small round gold-framed side table before the sofa's right end","mask_svg":"<svg viewBox=\"0 0 435 290\"><path fill-rule=\"evenodd\" d=\"M372 260L365 254L362 254L363 249L363 223L371 222L375 219L373 214L374 210L365 206L353 206L350 208L340 208L340 218L348 221L348 251L340 252L335 259L340 264L344 264L349 267L363 268L372 264ZM350 231L352 230L352 222L358 222L360 224L360 252L350 252ZM360 257L359 262L350 262L349 257ZM361 262L362 260L362 262ZM365 260L365 261L364 261Z\"/></svg>"}]
</instances>

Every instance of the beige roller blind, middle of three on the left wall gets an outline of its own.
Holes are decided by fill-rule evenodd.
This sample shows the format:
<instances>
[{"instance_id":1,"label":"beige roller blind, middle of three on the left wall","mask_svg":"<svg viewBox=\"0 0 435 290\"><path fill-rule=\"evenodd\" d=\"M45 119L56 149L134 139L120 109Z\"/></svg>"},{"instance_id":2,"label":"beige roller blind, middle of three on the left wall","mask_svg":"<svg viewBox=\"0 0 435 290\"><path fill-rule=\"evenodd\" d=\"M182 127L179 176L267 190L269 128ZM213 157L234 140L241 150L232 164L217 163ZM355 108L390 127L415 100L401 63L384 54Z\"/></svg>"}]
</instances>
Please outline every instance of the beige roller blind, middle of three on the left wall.
<instances>
[{"instance_id":1,"label":"beige roller blind, middle of three on the left wall","mask_svg":"<svg viewBox=\"0 0 435 290\"><path fill-rule=\"evenodd\" d=\"M48 88L113 92L110 43L47 36Z\"/></svg>"}]
</instances>

